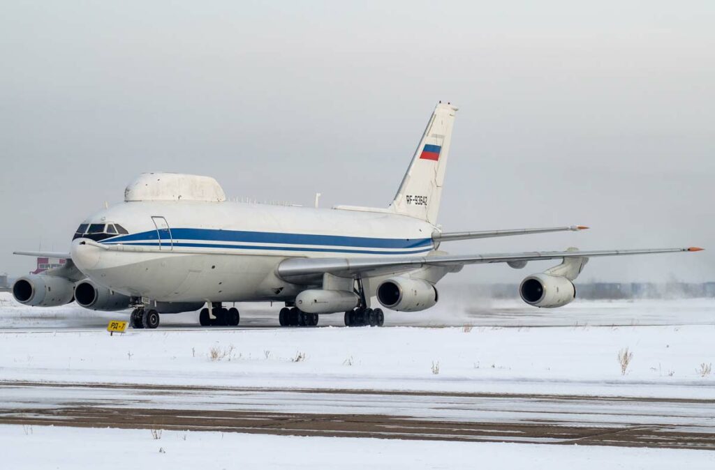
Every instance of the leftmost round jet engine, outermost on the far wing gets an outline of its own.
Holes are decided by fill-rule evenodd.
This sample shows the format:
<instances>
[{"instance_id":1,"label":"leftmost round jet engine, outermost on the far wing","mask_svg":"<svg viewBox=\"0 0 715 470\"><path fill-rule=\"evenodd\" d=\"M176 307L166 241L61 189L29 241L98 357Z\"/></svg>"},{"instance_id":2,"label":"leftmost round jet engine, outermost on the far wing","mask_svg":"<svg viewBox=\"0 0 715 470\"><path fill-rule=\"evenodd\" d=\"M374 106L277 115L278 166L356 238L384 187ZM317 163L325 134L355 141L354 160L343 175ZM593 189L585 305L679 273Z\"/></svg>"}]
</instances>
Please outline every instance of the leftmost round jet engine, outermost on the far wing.
<instances>
[{"instance_id":1,"label":"leftmost round jet engine, outermost on the far wing","mask_svg":"<svg viewBox=\"0 0 715 470\"><path fill-rule=\"evenodd\" d=\"M15 281L12 296L25 305L64 305L69 304L74 297L74 284L64 277L30 274Z\"/></svg>"}]
</instances>

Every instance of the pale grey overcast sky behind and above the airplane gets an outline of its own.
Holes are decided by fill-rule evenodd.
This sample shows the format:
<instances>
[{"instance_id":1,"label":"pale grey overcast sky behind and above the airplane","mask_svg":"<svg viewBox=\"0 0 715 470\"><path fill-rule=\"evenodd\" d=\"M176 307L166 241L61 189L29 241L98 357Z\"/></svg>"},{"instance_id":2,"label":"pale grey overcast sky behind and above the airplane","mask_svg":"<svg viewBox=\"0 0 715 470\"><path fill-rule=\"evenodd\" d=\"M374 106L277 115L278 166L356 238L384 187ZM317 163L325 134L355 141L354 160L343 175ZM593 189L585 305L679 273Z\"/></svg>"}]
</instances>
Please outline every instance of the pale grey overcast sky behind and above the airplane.
<instances>
[{"instance_id":1,"label":"pale grey overcast sky behind and above the airplane","mask_svg":"<svg viewBox=\"0 0 715 470\"><path fill-rule=\"evenodd\" d=\"M586 3L3 1L0 272L68 249L144 171L386 206L443 100L446 230L592 227L443 249L700 245L581 279L715 280L715 2Z\"/></svg>"}]
</instances>

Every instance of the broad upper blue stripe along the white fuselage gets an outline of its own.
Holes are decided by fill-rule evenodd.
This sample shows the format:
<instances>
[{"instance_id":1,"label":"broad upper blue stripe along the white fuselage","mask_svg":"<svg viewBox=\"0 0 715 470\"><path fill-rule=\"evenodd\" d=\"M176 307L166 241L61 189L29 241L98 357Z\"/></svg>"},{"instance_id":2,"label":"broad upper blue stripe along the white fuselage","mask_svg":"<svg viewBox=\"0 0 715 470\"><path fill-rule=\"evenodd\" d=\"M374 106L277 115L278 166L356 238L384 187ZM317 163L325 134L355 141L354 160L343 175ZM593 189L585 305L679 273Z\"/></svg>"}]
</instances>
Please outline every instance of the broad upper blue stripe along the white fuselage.
<instances>
[{"instance_id":1,"label":"broad upper blue stripe along the white fuselage","mask_svg":"<svg viewBox=\"0 0 715 470\"><path fill-rule=\"evenodd\" d=\"M429 247L432 239L380 239L364 236L339 236L315 234L281 234L265 231L236 231L215 229L171 229L174 240L234 241L244 243L268 243L284 245L352 246L355 248L409 249ZM158 240L156 230L139 234L115 236L102 243L127 243L128 241ZM329 250L335 251L335 250Z\"/></svg>"}]
</instances>

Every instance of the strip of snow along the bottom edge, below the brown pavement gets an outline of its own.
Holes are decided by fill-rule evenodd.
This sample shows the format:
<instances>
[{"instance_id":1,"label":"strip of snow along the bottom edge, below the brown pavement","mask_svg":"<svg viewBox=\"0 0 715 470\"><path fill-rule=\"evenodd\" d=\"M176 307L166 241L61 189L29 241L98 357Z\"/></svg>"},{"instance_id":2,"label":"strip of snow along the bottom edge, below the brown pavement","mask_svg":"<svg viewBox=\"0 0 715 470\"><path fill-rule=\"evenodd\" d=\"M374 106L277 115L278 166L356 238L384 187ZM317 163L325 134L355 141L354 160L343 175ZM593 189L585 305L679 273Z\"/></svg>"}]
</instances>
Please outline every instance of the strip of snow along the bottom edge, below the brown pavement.
<instances>
[{"instance_id":1,"label":"strip of snow along the bottom edge, below the brown pavement","mask_svg":"<svg viewBox=\"0 0 715 470\"><path fill-rule=\"evenodd\" d=\"M71 443L71 444L68 444ZM715 452L0 426L6 469L712 469Z\"/></svg>"}]
</instances>

